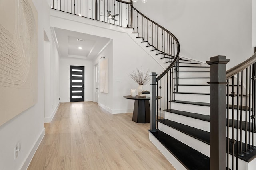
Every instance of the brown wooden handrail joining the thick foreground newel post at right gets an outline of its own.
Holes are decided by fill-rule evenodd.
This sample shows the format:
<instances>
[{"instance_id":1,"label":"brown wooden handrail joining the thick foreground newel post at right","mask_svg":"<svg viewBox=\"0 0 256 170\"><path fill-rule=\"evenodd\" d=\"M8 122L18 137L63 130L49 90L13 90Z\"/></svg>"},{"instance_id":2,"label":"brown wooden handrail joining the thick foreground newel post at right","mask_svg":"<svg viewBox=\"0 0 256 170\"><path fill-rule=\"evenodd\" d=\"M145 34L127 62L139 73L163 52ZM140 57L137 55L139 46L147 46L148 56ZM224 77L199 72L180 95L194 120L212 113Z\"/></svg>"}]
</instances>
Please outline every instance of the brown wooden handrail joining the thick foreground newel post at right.
<instances>
[{"instance_id":1,"label":"brown wooden handrail joining the thick foreground newel post at right","mask_svg":"<svg viewBox=\"0 0 256 170\"><path fill-rule=\"evenodd\" d=\"M226 71L226 79L238 74L239 72L241 72L242 70L249 67L250 65L252 65L255 62L256 62L256 52L254 53L254 55L252 55L252 57L250 57L246 61L244 61L244 62L234 66L233 68L230 68L229 70L227 70Z\"/></svg>"}]
</instances>

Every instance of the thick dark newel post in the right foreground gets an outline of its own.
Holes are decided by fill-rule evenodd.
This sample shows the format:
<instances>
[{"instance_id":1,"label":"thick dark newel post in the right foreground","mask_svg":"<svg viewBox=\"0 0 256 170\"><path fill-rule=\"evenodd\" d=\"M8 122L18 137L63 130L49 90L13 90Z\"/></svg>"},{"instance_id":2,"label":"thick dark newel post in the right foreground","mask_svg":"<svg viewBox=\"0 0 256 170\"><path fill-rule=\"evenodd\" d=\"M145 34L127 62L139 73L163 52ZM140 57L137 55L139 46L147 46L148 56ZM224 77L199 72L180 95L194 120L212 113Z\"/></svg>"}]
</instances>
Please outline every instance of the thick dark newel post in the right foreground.
<instances>
[{"instance_id":1,"label":"thick dark newel post in the right foreground","mask_svg":"<svg viewBox=\"0 0 256 170\"><path fill-rule=\"evenodd\" d=\"M211 57L210 170L226 170L226 56Z\"/></svg>"}]
</instances>

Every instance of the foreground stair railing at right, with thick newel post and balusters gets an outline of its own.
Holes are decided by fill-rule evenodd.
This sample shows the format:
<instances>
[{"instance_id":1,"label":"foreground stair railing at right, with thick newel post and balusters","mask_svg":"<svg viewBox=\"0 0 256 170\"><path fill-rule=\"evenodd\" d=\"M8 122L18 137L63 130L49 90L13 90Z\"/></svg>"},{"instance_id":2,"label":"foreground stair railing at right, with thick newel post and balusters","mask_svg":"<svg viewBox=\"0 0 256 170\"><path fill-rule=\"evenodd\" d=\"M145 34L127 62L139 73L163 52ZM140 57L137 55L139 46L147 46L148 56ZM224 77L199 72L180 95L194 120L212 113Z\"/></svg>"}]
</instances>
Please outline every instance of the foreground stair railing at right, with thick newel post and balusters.
<instances>
[{"instance_id":1,"label":"foreground stair railing at right, with thick newel post and balusters","mask_svg":"<svg viewBox=\"0 0 256 170\"><path fill-rule=\"evenodd\" d=\"M238 158L248 160L256 149L256 53L225 71L228 61L225 56L216 56L207 62L210 65L211 170L238 170Z\"/></svg>"}]
</instances>

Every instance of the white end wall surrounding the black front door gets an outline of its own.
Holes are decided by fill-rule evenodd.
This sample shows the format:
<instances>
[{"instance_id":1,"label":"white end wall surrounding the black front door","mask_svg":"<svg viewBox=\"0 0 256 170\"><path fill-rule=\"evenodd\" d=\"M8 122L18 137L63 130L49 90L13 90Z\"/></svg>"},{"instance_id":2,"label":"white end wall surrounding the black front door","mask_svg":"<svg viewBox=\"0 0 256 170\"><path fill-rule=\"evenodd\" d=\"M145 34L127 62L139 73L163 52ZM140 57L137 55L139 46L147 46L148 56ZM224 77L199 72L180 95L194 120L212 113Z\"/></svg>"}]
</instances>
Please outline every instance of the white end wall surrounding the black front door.
<instances>
[{"instance_id":1,"label":"white end wall surrounding the black front door","mask_svg":"<svg viewBox=\"0 0 256 170\"><path fill-rule=\"evenodd\" d=\"M84 101L93 100L92 60L60 57L60 102L70 102L70 65L84 66Z\"/></svg>"}]
</instances>

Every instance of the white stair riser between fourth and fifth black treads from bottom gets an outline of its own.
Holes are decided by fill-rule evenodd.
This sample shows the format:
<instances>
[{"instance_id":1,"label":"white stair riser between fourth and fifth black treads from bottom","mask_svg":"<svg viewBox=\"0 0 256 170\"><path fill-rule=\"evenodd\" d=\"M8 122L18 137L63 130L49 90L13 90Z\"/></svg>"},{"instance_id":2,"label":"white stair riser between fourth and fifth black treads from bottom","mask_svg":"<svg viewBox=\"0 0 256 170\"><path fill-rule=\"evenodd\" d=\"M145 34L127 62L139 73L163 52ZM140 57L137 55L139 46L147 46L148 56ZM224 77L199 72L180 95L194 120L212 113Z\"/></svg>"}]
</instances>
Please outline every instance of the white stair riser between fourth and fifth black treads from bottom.
<instances>
[{"instance_id":1,"label":"white stair riser between fourth and fifth black treads from bottom","mask_svg":"<svg viewBox=\"0 0 256 170\"><path fill-rule=\"evenodd\" d=\"M210 103L210 95L204 94L179 94L176 93L175 100L185 100L190 102L206 102Z\"/></svg>"}]
</instances>

